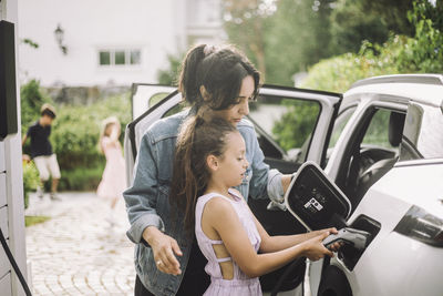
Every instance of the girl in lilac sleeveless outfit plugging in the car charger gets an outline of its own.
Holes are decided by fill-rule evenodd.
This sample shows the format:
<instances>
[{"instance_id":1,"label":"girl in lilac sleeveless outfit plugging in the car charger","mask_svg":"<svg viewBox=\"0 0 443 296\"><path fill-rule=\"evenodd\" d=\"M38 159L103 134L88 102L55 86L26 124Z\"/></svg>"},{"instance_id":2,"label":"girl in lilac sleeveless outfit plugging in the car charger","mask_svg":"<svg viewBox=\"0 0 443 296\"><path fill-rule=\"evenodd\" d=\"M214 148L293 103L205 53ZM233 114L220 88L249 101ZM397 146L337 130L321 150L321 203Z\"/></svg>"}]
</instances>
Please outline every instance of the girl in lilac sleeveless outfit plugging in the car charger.
<instances>
[{"instance_id":1,"label":"girl in lilac sleeveless outfit plugging in the car charger","mask_svg":"<svg viewBox=\"0 0 443 296\"><path fill-rule=\"evenodd\" d=\"M321 242L337 233L334 228L291 236L267 234L233 188L247 177L245 153L241 134L218 118L187 120L177 139L169 198L172 208L184 213L188 235L195 228L208 261L205 271L210 285L205 295L261 295L258 276L300 256L311 261L333 256Z\"/></svg>"}]
</instances>

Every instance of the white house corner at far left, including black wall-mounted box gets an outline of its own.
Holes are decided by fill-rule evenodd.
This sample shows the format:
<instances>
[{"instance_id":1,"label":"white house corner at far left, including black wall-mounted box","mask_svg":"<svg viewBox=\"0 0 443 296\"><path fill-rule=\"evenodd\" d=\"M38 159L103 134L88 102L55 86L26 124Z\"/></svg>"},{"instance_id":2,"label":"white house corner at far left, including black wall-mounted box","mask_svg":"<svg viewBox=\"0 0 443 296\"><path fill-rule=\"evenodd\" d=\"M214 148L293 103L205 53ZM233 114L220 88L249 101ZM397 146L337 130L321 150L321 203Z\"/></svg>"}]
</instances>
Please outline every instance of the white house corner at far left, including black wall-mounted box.
<instances>
[{"instance_id":1,"label":"white house corner at far left, including black wall-mounted box","mask_svg":"<svg viewBox=\"0 0 443 296\"><path fill-rule=\"evenodd\" d=\"M22 274L27 275L24 205L17 80L16 0L0 0L0 228ZM16 30L13 30L16 29ZM24 295L0 245L0 294Z\"/></svg>"}]
</instances>

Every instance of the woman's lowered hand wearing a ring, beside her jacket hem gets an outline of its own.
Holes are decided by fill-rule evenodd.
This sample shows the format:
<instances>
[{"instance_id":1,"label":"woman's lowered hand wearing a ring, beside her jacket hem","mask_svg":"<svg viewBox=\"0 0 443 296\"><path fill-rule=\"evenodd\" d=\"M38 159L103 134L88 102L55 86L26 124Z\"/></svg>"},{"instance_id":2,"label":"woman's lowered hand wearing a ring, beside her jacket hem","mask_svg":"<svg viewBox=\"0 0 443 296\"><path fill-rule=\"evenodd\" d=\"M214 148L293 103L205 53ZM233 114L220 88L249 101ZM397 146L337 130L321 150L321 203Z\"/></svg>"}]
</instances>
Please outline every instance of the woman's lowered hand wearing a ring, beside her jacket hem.
<instances>
[{"instance_id":1,"label":"woman's lowered hand wearing a ring, beside her jacket hem","mask_svg":"<svg viewBox=\"0 0 443 296\"><path fill-rule=\"evenodd\" d=\"M143 232L143 238L153 249L155 265L158 271L172 275L182 274L179 263L175 257L175 255L183 255L177 241L162 233L154 226L146 227Z\"/></svg>"}]
</instances>

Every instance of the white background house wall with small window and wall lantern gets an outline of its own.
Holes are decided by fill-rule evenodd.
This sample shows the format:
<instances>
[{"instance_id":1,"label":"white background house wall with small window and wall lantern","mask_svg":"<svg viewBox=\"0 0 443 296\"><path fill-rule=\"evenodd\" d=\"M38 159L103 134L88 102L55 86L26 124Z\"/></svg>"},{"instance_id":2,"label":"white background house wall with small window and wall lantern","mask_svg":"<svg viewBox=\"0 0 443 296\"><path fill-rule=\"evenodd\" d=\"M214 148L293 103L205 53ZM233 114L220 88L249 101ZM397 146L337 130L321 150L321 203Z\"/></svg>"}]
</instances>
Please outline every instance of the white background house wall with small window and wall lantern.
<instances>
[{"instance_id":1,"label":"white background house wall with small window and wall lantern","mask_svg":"<svg viewBox=\"0 0 443 296\"><path fill-rule=\"evenodd\" d=\"M184 40L177 18L182 1L174 0L20 0L20 78L37 78L42 85L96 85L155 82ZM54 31L64 31L63 54ZM141 64L100 67L101 49L140 49Z\"/></svg>"}]
</instances>

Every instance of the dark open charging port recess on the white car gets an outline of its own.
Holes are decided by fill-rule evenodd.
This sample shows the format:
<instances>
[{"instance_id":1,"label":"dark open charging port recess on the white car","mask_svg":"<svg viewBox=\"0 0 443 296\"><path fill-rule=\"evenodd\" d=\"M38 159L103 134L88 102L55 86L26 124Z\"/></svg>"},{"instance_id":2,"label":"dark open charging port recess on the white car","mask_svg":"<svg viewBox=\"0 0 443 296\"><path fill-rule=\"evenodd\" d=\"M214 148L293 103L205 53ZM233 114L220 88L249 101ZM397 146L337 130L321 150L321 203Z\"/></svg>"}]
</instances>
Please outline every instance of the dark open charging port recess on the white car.
<instances>
[{"instance_id":1,"label":"dark open charging port recess on the white car","mask_svg":"<svg viewBox=\"0 0 443 296\"><path fill-rule=\"evenodd\" d=\"M354 220L350 227L369 233L363 248L358 248L352 244L344 244L338 252L339 259L343 262L349 271L353 271L361 255L363 255L364 251L380 232L381 224L365 215L360 215Z\"/></svg>"}]
</instances>

